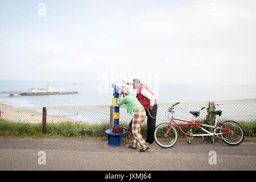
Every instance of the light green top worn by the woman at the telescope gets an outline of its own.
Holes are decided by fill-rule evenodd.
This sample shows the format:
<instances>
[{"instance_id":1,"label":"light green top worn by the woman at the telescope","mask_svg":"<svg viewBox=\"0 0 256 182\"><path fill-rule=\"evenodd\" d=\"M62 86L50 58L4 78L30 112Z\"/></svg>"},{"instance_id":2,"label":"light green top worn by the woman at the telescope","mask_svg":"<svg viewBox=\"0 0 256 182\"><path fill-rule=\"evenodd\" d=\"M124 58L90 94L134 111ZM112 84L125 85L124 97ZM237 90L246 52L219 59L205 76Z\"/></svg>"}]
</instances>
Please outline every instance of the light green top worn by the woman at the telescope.
<instances>
[{"instance_id":1,"label":"light green top worn by the woman at the telescope","mask_svg":"<svg viewBox=\"0 0 256 182\"><path fill-rule=\"evenodd\" d=\"M127 113L129 113L130 115L133 115L133 111L135 109L144 108L141 105L141 102L139 102L138 98L135 97L133 94L127 94L127 96L125 96L121 102L117 102L118 106L123 104L126 105Z\"/></svg>"}]
</instances>

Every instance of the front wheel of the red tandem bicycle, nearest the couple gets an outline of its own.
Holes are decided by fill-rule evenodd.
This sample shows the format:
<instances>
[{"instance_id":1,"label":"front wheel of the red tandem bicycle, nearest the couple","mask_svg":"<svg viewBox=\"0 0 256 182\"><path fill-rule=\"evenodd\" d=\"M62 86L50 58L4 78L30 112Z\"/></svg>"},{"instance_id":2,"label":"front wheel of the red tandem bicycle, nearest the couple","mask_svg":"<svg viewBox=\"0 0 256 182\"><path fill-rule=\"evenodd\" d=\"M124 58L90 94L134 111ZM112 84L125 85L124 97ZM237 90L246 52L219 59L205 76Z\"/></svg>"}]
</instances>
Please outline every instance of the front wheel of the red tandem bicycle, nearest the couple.
<instances>
[{"instance_id":1,"label":"front wheel of the red tandem bicycle, nearest the couple","mask_svg":"<svg viewBox=\"0 0 256 182\"><path fill-rule=\"evenodd\" d=\"M167 130L169 129L169 123L162 123L155 128L154 137L155 142L163 148L170 148L174 146L177 142L177 131L174 126L171 126L171 129L166 135Z\"/></svg>"}]
</instances>

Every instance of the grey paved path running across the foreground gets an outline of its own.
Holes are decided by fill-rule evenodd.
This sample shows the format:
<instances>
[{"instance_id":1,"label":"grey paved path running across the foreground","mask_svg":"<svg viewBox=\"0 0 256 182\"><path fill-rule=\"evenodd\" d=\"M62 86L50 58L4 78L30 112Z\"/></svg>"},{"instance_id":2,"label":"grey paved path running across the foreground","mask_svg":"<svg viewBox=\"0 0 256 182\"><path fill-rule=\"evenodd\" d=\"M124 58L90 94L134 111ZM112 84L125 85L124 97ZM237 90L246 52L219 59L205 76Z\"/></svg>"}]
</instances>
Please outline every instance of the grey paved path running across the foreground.
<instances>
[{"instance_id":1,"label":"grey paved path running across the foreground","mask_svg":"<svg viewBox=\"0 0 256 182\"><path fill-rule=\"evenodd\" d=\"M156 143L146 152L108 146L106 140L0 138L0 170L255 170L256 143L228 146L223 142ZM39 151L46 164L38 164ZM216 152L216 164L210 151ZM209 164L210 162L212 164ZM40 160L43 162L43 160Z\"/></svg>"}]
</instances>

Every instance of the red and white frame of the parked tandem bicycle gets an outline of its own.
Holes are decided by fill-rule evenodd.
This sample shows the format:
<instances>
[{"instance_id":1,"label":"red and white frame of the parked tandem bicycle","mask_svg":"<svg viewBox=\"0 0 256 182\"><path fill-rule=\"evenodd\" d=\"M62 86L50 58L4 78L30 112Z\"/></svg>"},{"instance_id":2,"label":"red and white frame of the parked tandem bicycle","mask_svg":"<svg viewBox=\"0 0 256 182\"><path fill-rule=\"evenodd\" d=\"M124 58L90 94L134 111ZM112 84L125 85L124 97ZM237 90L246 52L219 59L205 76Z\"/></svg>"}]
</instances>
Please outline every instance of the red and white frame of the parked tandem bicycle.
<instances>
[{"instance_id":1,"label":"red and white frame of the parked tandem bicycle","mask_svg":"<svg viewBox=\"0 0 256 182\"><path fill-rule=\"evenodd\" d=\"M179 124L179 123L176 123L175 121L184 121L184 122L188 122L188 124ZM230 130L224 123L221 123L219 122L220 125L224 125L225 128L220 128L220 127L217 127L217 117L216 117L216 120L215 120L215 125L214 126L211 126L211 125L205 125L205 124L201 124L201 123L194 123L194 121L188 121L188 120L185 120L185 119L180 119L180 118L174 118L174 116L172 115L172 118L171 118L171 121L170 121L170 127L168 128L167 132L166 132L166 135L168 135L170 129L171 129L171 126L172 126L172 122L174 122L180 129L180 131L189 136L189 137L199 137L199 136L213 136L213 135L222 135L222 134L229 134L229 133L233 133L232 130ZM207 134L187 134L187 133L184 133L184 131L181 129L180 126L196 126L196 127L199 127L199 129L205 131L205 133ZM207 131L205 129L203 129L201 126L205 126L205 127L210 127L210 128L213 128L214 131L213 133L210 132L210 131ZM224 131L227 131L226 133L216 133L216 129L221 129L221 130L224 130ZM191 129L192 130L192 129Z\"/></svg>"}]
</instances>

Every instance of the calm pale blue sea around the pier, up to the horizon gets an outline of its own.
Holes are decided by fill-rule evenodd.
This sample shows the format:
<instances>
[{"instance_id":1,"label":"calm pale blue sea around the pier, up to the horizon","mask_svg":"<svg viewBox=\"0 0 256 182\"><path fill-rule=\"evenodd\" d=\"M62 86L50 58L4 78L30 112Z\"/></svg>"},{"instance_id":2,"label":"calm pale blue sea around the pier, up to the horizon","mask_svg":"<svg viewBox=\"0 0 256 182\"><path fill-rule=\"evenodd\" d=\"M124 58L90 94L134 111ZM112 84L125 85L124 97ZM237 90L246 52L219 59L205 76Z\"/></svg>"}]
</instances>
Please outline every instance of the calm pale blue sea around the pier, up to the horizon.
<instances>
[{"instance_id":1,"label":"calm pale blue sea around the pier, up to the horizon","mask_svg":"<svg viewBox=\"0 0 256 182\"><path fill-rule=\"evenodd\" d=\"M99 84L97 81L76 82L78 94L48 96L9 96L9 94L2 94L0 95L0 102L16 107L112 105L113 91L110 84L105 93L101 93ZM0 80L0 91L27 91L30 88L46 88L47 85L56 89L73 89L73 82ZM154 90L158 103L256 98L256 85L159 84L151 89ZM135 94L135 90L133 94Z\"/></svg>"}]
</instances>

